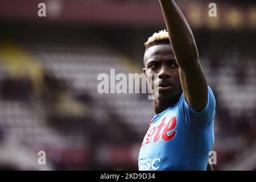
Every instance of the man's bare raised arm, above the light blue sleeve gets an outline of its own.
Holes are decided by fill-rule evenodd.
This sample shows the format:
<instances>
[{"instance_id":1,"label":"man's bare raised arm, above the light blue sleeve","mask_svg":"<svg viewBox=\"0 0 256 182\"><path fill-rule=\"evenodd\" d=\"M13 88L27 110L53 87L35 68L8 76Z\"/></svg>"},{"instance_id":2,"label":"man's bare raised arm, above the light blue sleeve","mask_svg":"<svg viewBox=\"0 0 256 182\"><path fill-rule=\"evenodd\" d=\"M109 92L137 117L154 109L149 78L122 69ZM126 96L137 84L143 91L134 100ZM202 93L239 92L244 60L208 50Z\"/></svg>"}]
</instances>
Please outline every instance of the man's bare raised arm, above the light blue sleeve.
<instances>
[{"instance_id":1,"label":"man's bare raised arm, above the light blue sleeve","mask_svg":"<svg viewBox=\"0 0 256 182\"><path fill-rule=\"evenodd\" d=\"M207 105L208 88L191 28L173 0L159 0L159 2L176 62L179 65L185 100L192 109L201 111Z\"/></svg>"}]
</instances>

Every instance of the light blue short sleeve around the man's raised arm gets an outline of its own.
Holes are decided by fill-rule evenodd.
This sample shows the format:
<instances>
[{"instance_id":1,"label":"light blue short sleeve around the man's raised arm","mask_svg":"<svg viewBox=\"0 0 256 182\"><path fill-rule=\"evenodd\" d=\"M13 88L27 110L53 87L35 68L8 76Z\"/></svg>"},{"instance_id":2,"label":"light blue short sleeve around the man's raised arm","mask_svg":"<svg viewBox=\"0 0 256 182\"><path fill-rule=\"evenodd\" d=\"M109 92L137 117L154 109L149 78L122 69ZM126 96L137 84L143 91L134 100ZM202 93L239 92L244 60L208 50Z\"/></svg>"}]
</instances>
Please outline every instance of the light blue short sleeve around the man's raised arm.
<instances>
[{"instance_id":1,"label":"light blue short sleeve around the man's raised arm","mask_svg":"<svg viewBox=\"0 0 256 182\"><path fill-rule=\"evenodd\" d=\"M212 92L212 89L208 86L208 101L207 105L202 111L193 110L185 101L184 93L181 95L178 107L180 111L181 118L189 129L193 133L200 133L203 131L211 122L213 122L215 117L215 106L216 101Z\"/></svg>"}]
</instances>

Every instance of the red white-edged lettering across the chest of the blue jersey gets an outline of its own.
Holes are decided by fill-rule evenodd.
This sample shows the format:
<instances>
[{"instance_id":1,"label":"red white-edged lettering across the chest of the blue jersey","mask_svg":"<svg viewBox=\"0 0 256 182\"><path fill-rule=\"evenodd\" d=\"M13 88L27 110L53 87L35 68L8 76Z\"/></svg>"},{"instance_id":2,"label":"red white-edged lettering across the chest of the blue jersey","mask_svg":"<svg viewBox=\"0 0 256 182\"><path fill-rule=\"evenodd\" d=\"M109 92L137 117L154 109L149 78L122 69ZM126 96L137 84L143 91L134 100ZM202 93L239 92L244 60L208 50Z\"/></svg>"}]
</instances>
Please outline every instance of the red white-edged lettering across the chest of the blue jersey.
<instances>
[{"instance_id":1,"label":"red white-edged lettering across the chest of the blue jersey","mask_svg":"<svg viewBox=\"0 0 256 182\"><path fill-rule=\"evenodd\" d=\"M144 145L152 143L157 143L159 139L164 142L172 140L176 135L175 127L177 125L176 116L172 117L170 121L166 122L166 117L164 117L158 126L152 126L152 121L150 122L150 128L144 137L142 147ZM172 131L174 130L174 131Z\"/></svg>"}]
</instances>

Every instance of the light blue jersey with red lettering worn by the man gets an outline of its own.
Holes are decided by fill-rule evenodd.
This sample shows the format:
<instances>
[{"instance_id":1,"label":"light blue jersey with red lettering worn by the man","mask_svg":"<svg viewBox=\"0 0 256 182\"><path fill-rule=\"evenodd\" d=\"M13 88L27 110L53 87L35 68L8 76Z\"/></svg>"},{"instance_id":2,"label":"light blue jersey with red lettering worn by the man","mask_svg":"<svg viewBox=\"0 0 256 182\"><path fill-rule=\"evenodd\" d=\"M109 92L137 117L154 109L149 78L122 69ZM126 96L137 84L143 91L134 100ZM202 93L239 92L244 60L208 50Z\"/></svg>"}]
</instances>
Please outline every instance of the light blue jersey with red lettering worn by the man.
<instances>
[{"instance_id":1,"label":"light blue jersey with red lettering worn by the man","mask_svg":"<svg viewBox=\"0 0 256 182\"><path fill-rule=\"evenodd\" d=\"M139 170L206 170L214 143L215 98L195 111L185 101L156 114L139 151Z\"/></svg>"}]
</instances>

